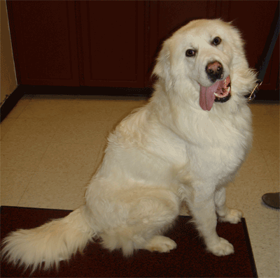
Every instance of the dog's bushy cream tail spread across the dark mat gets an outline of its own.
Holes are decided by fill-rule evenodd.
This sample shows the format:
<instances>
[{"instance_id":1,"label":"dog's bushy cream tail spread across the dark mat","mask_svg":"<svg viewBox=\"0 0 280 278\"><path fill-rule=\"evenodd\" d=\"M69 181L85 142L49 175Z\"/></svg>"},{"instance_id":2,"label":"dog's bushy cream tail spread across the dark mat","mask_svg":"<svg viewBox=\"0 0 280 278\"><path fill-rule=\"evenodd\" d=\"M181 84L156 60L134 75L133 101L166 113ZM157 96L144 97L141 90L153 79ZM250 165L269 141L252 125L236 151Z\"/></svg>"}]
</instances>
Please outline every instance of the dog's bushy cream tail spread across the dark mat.
<instances>
[{"instance_id":1,"label":"dog's bushy cream tail spread across the dark mat","mask_svg":"<svg viewBox=\"0 0 280 278\"><path fill-rule=\"evenodd\" d=\"M48 270L59 261L69 260L76 251L83 251L96 235L87 225L85 207L80 207L62 219L52 220L30 230L18 230L3 240L2 258L14 265Z\"/></svg>"}]
</instances>

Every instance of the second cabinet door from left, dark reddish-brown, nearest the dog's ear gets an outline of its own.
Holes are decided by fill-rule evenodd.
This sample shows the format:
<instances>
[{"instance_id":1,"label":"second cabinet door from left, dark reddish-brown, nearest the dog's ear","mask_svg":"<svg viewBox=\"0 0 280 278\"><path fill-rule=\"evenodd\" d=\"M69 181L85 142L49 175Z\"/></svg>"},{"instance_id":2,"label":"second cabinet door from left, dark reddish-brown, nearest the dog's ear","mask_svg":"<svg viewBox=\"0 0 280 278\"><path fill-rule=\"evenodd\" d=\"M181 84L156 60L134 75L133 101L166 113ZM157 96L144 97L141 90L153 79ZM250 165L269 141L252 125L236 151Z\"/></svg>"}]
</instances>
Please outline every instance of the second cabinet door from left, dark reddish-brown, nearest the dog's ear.
<instances>
[{"instance_id":1,"label":"second cabinet door from left, dark reddish-brown, nearest the dog's ear","mask_svg":"<svg viewBox=\"0 0 280 278\"><path fill-rule=\"evenodd\" d=\"M144 86L144 3L81 2L85 85Z\"/></svg>"}]
</instances>

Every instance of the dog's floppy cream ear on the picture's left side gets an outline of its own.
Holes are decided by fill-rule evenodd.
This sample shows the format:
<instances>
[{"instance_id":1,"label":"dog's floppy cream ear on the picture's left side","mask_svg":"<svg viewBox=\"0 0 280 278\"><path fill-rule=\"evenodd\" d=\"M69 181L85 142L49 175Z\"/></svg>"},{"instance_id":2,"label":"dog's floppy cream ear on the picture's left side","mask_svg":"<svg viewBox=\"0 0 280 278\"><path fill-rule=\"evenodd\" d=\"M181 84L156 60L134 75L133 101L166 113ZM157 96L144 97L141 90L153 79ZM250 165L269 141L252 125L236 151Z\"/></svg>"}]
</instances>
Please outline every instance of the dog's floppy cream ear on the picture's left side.
<instances>
[{"instance_id":1,"label":"dog's floppy cream ear on the picture's left side","mask_svg":"<svg viewBox=\"0 0 280 278\"><path fill-rule=\"evenodd\" d=\"M169 41L165 41L162 45L162 50L158 55L155 68L153 69L153 75L162 78L163 80L169 79L170 73L170 51L169 51Z\"/></svg>"}]
</instances>

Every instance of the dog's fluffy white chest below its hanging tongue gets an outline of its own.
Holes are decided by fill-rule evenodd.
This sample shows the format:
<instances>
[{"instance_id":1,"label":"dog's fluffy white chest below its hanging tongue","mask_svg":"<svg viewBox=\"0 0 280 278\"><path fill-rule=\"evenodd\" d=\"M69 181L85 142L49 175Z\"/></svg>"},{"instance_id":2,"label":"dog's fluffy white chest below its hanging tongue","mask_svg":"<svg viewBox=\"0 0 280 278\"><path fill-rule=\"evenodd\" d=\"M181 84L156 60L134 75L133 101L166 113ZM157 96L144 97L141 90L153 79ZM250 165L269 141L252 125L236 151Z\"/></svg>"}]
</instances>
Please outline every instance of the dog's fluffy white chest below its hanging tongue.
<instances>
[{"instance_id":1,"label":"dog's fluffy white chest below its hanging tongue","mask_svg":"<svg viewBox=\"0 0 280 278\"><path fill-rule=\"evenodd\" d=\"M251 113L244 109L228 119L204 118L191 125L196 141L186 147L187 160L197 175L223 179L240 168L252 141Z\"/></svg>"}]
</instances>

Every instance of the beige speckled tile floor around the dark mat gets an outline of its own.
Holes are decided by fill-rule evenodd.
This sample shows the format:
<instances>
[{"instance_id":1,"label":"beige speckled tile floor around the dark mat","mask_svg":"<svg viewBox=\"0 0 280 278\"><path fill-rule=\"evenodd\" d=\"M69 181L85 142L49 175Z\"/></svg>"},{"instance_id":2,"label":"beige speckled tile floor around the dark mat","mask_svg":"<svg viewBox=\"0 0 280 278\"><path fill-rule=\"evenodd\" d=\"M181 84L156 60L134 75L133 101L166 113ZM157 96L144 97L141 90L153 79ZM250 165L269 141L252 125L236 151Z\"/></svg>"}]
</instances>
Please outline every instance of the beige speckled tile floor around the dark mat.
<instances>
[{"instance_id":1,"label":"beige speckled tile floor around the dark mat","mask_svg":"<svg viewBox=\"0 0 280 278\"><path fill-rule=\"evenodd\" d=\"M73 210L102 160L106 136L144 98L24 96L1 123L1 205ZM259 277L279 277L279 105L251 104L254 143L228 187L243 210ZM181 214L187 214L182 208Z\"/></svg>"}]
</instances>

